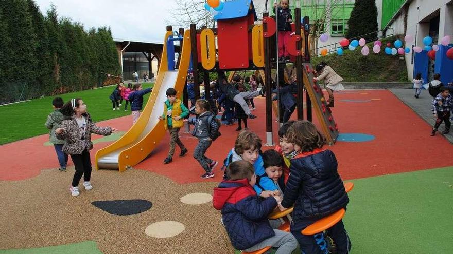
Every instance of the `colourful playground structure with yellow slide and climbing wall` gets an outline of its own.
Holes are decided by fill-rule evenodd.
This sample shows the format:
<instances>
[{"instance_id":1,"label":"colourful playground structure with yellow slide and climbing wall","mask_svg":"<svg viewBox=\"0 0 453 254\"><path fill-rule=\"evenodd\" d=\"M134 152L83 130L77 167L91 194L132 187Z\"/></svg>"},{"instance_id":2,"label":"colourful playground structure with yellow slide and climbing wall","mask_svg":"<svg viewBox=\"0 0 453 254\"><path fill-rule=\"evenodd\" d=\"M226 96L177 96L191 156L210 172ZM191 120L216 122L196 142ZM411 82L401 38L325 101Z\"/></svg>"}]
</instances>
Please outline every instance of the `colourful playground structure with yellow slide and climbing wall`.
<instances>
[{"instance_id":1,"label":"colourful playground structure with yellow slide and climbing wall","mask_svg":"<svg viewBox=\"0 0 453 254\"><path fill-rule=\"evenodd\" d=\"M246 4L244 4L246 3ZM267 4L266 4L267 6ZM291 61L294 62L297 94L297 118L304 119L303 87L307 90L306 114L311 121L312 106L316 112L327 142L333 145L338 136L338 128L330 108L327 107L322 88L313 82L309 53L309 18L301 19L301 9L294 9L294 21L288 42ZM276 21L269 17L267 9L263 13L263 24L257 20L252 0L224 2L221 12L214 15L217 28L190 29L172 32L167 26L164 49L153 91L138 121L119 140L100 149L96 153L96 169L118 169L120 172L144 160L159 144L165 135L164 122L158 120L163 112L165 91L173 87L183 93L184 104L188 105L185 86L189 69L194 75L196 99L200 98L198 73L204 73L204 84L210 82L208 72L260 70L266 87L266 144L273 145L271 69L283 73L283 65L276 57ZM301 22L302 21L302 22ZM302 26L303 25L303 26ZM216 40L217 38L217 40ZM180 41L181 52L175 61L174 41ZM216 48L217 43L217 48ZM277 74L278 75L278 74ZM286 75L287 82L290 75ZM277 79L280 80L280 79ZM277 81L277 83L279 83ZM280 84L277 85L279 87ZM210 87L204 86L206 100L210 100ZM181 94L180 94L181 95Z\"/></svg>"}]
</instances>

